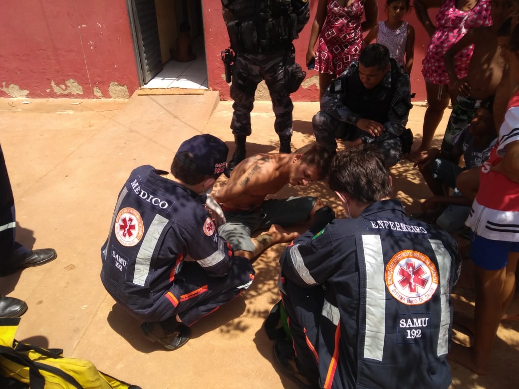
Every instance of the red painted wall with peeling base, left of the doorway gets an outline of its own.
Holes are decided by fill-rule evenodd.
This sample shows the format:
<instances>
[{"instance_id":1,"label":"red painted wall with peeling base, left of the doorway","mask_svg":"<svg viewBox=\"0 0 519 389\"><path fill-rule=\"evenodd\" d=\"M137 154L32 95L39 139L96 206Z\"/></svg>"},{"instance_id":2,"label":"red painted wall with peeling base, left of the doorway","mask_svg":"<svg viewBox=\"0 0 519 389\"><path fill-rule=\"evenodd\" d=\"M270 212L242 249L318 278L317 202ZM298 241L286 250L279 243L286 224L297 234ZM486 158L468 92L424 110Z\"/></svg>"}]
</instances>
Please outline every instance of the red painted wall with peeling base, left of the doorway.
<instances>
[{"instance_id":1,"label":"red painted wall with peeling base, left of the doorway","mask_svg":"<svg viewBox=\"0 0 519 389\"><path fill-rule=\"evenodd\" d=\"M139 88L125 0L2 0L1 9L0 97L116 98Z\"/></svg>"}]
</instances>

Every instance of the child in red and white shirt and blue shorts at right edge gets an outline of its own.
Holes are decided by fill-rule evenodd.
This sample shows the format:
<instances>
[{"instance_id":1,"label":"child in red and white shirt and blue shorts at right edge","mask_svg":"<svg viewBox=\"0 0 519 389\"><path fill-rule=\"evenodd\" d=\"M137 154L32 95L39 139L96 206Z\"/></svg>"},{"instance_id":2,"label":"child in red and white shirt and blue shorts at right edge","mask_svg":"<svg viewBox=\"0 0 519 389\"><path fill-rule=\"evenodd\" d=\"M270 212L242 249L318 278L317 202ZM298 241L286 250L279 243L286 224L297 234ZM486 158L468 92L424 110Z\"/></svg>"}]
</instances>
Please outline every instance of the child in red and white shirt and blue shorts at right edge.
<instances>
[{"instance_id":1,"label":"child in red and white shirt and blue shorts at right edge","mask_svg":"<svg viewBox=\"0 0 519 389\"><path fill-rule=\"evenodd\" d=\"M511 76L519 78L519 25L510 36ZM498 142L480 170L480 188L467 226L472 230L476 305L470 348L453 343L449 358L487 374L499 321L514 295L519 259L519 92L512 96Z\"/></svg>"}]
</instances>

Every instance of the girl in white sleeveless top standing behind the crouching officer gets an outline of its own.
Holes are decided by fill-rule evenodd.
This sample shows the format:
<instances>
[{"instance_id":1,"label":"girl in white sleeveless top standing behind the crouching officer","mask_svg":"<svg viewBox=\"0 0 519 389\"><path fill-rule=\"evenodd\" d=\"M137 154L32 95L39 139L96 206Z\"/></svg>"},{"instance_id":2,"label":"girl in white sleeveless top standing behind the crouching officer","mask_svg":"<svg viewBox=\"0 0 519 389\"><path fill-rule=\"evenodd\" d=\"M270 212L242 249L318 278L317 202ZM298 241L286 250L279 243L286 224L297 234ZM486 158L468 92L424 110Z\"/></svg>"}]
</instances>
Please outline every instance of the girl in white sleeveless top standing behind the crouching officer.
<instances>
[{"instance_id":1,"label":"girl in white sleeveless top standing behind the crouching officer","mask_svg":"<svg viewBox=\"0 0 519 389\"><path fill-rule=\"evenodd\" d=\"M377 43L389 49L389 55L404 68L405 73L411 74L415 50L415 29L402 18L411 9L411 0L387 0L387 20L379 21L371 29L363 41L363 46L371 43L375 37ZM405 55L405 61L404 61Z\"/></svg>"}]
</instances>

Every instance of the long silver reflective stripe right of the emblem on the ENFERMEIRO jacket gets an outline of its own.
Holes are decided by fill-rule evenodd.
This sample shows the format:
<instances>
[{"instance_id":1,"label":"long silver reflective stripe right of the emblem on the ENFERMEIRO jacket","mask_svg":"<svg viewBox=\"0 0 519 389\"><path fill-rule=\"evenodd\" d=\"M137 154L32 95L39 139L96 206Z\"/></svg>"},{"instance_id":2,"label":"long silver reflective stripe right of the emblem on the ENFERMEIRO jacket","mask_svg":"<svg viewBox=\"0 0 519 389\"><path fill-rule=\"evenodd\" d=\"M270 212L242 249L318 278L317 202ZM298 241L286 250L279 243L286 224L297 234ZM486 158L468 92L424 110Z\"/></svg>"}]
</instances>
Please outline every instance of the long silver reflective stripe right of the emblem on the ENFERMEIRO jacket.
<instances>
[{"instance_id":1,"label":"long silver reflective stripe right of the emblem on the ENFERMEIRO jacket","mask_svg":"<svg viewBox=\"0 0 519 389\"><path fill-rule=\"evenodd\" d=\"M443 243L439 240L429 239L436 259L438 260L438 275L440 279L440 334L438 336L438 356L449 352L449 325L450 308L448 298L450 296L450 255Z\"/></svg>"}]
</instances>

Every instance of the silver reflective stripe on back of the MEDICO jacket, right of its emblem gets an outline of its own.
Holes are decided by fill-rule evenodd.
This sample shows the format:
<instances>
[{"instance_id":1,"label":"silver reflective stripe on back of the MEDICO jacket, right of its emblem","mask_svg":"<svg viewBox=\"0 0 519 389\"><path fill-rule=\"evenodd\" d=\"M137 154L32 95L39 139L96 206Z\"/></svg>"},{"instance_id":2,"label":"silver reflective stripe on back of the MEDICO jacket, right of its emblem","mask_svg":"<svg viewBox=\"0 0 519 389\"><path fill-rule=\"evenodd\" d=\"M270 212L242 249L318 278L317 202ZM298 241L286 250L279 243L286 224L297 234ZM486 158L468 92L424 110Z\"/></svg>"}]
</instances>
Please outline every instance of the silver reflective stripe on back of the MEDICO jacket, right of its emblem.
<instances>
[{"instance_id":1,"label":"silver reflective stripe on back of the MEDICO jacket, right of its emblem","mask_svg":"<svg viewBox=\"0 0 519 389\"><path fill-rule=\"evenodd\" d=\"M168 224L168 219L160 215L155 215L152 224L146 231L146 235L142 240L141 248L137 257L135 258L135 272L133 273L132 283L135 285L144 286L146 278L149 274L149 267L151 265L153 252L155 246L160 238L160 234Z\"/></svg>"}]
</instances>

